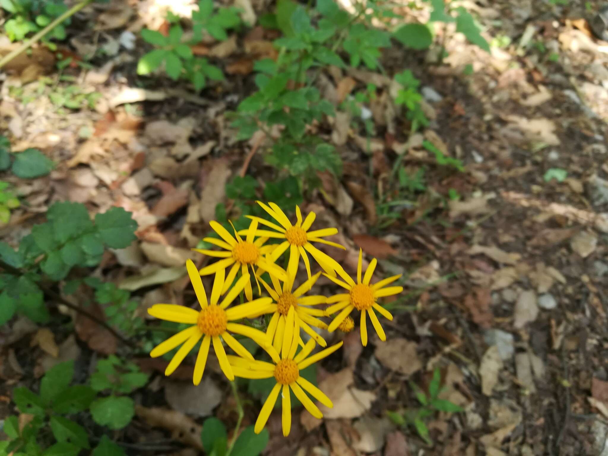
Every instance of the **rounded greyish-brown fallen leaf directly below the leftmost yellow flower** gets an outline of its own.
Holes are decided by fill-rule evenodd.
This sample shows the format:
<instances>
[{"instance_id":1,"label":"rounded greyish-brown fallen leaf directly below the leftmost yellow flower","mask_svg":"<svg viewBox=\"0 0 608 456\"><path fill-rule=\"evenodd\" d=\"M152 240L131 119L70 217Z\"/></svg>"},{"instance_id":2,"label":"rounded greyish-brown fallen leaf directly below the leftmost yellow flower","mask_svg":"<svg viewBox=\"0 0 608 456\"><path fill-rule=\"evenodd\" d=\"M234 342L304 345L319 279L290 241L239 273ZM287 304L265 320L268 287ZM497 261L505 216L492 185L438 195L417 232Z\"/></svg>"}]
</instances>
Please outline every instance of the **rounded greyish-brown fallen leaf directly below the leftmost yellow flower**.
<instances>
[{"instance_id":1,"label":"rounded greyish-brown fallen leaf directly below the leftmost yellow flower","mask_svg":"<svg viewBox=\"0 0 608 456\"><path fill-rule=\"evenodd\" d=\"M200 387L199 387L200 386ZM188 381L167 380L165 399L171 409L193 416L209 416L222 401L222 390L210 376L205 376L199 386Z\"/></svg>"}]
</instances>

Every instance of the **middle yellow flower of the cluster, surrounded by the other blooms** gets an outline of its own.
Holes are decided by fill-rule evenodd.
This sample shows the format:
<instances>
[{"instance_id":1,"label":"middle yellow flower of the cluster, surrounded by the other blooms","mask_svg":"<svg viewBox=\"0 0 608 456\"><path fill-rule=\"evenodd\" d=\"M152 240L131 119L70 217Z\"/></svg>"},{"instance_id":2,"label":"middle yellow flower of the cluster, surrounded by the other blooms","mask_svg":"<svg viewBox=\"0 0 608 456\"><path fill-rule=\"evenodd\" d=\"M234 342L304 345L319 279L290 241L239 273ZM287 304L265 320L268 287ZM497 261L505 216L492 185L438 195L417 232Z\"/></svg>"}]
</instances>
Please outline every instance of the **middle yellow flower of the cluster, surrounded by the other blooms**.
<instances>
[{"instance_id":1,"label":"middle yellow flower of the cluster, surrounded by the other blooms","mask_svg":"<svg viewBox=\"0 0 608 456\"><path fill-rule=\"evenodd\" d=\"M315 317L324 317L328 316L324 310L321 309L313 309L309 306L325 304L327 298L325 296L302 296L306 290L309 290L317 279L321 275L320 272L313 275L313 277L306 280L306 282L302 283L295 291L291 291L294 286L294 277L289 275L288 280L283 282L283 289L281 289L280 283L278 280L271 275L272 285L274 289L272 289L264 280L260 278L260 282L268 291L268 294L271 295L274 303L268 306L269 309L272 309L272 318L270 323L268 324L268 329L266 330L266 334L273 340L273 346L275 350L281 350L281 347L285 346L285 344L289 344L291 339L285 340L289 337L288 331L286 331L287 325L294 325L297 320L300 328L302 328L309 336L311 336L314 340L316 340L317 344L321 345L321 347L327 347L327 342L323 337L319 336L313 328L310 326L316 326L317 328L322 328L325 330L327 328L326 323L322 322L318 318ZM294 309L294 321L289 321L289 310ZM270 313L270 312L269 312ZM302 344L303 345L303 344Z\"/></svg>"}]
</instances>

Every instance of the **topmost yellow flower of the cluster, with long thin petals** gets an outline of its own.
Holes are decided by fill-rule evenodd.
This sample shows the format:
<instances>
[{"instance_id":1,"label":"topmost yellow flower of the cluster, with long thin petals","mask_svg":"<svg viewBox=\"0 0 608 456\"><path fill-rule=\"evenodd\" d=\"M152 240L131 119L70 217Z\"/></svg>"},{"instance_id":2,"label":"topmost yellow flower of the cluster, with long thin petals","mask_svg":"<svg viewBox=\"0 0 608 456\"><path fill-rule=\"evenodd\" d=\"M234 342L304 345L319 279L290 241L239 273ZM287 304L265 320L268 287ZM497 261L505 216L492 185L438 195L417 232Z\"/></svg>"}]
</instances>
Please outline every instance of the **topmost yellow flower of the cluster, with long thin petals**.
<instances>
[{"instance_id":1,"label":"topmost yellow flower of the cluster, with long thin petals","mask_svg":"<svg viewBox=\"0 0 608 456\"><path fill-rule=\"evenodd\" d=\"M289 247L289 263L287 266L288 274L295 275L295 272L298 268L298 261L300 260L300 255L304 260L304 264L306 266L306 272L308 272L308 278L311 278L310 273L310 262L308 260L308 255L306 252L311 254L311 256L320 264L320 266L330 275L335 277L337 269L342 269L342 266L337 263L336 260L331 258L329 255L324 254L321 250L317 249L317 247L313 246L311 242L319 242L322 244L328 244L329 246L338 247L339 249L345 249L345 247L340 246L335 242L326 241L321 239L326 236L334 235L338 232L337 228L323 228L320 230L308 231L313 224L313 221L316 217L314 212L309 212L304 221L302 221L302 212L300 212L300 208L295 206L295 216L297 217L297 223L292 225L289 222L289 219L285 215L285 213L278 207L274 202L269 202L268 206L261 201L257 202L262 209L264 209L268 214L274 218L281 226L277 224L271 223L269 221L264 220L260 217L254 217L247 215L248 218L257 221L263 225L266 225L276 231L270 230L252 230L251 226L249 230L243 230L240 233L247 233L247 236L253 231L256 236L263 236L266 238L278 238L285 239L282 243L278 244L271 253L271 260L276 261L278 257L283 255L283 252ZM270 207L269 207L270 206Z\"/></svg>"}]
</instances>

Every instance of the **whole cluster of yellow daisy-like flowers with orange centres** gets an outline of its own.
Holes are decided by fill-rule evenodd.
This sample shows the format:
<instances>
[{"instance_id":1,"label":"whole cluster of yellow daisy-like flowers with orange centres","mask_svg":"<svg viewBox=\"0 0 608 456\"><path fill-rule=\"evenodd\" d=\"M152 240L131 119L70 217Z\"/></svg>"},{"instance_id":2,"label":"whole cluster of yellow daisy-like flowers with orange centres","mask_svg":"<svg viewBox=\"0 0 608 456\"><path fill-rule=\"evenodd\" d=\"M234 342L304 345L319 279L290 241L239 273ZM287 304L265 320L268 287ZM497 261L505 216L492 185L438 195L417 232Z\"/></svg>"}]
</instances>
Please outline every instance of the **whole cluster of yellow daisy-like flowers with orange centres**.
<instances>
[{"instance_id":1,"label":"whole cluster of yellow daisy-like flowers with orange centres","mask_svg":"<svg viewBox=\"0 0 608 456\"><path fill-rule=\"evenodd\" d=\"M258 204L276 223L248 216L251 219L249 228L239 232L235 230L234 236L232 236L223 226L212 221L211 227L222 240L204 238L204 241L223 250L194 250L220 259L200 271L196 269L192 260L186 262L188 275L201 306L200 310L173 304L155 304L148 309L151 316L159 319L192 325L159 344L150 352L150 356L162 356L181 345L165 370L165 375L171 375L199 340L202 340L193 375L193 382L198 385L205 369L209 347L213 342L213 350L218 358L219 367L230 381L235 377L275 378L277 384L262 406L255 423L255 432L261 432L274 408L279 392L282 392L283 435L288 435L291 428L290 391L316 418L322 418L322 412L306 393L323 406L333 406L330 399L321 390L300 376L300 370L329 356L342 346L342 342L338 342L325 348L327 342L313 329L313 326L328 330L330 333L336 330L347 333L354 328L354 320L350 314L357 309L361 313L362 344L367 345L367 316L378 337L386 340L376 312L389 320L392 320L393 316L377 300L384 296L398 294L403 288L387 286L395 282L401 275L393 275L371 284L371 276L375 271L377 261L375 258L371 260L363 274L361 250L359 250L355 282L336 260L313 245L313 243L322 243L344 249L340 244L323 239L323 237L336 234L336 228L310 230L315 219L314 212L308 213L303 219L300 208L296 206L297 221L295 225L292 225L277 204L269 202L267 205L261 201L258 201ZM258 229L260 225L272 230ZM266 244L269 238L283 241L278 244ZM288 249L289 260L285 270L275 264L275 261ZM311 274L311 261L308 255L323 269L325 277L345 289L344 293L330 297L305 295L321 274L321 272ZM300 258L305 264L308 278L294 290ZM226 273L226 271L228 272ZM240 277L237 279L239 272ZM263 280L264 272L268 272L271 283ZM208 300L201 275L209 274L215 274L215 277ZM261 296L263 288L268 292L269 297L253 299L252 275L257 285L258 295ZM236 282L235 279L237 279ZM246 302L231 306L241 292L244 292ZM322 308L326 304L330 306ZM271 317L265 333L252 326L238 323L239 320L254 319L266 314ZM336 316L332 317L329 325L320 319L320 317L330 317L333 314ZM254 340L268 353L272 362L254 359L252 354L232 334ZM306 343L302 340L303 334L309 336ZM224 343L235 355L226 354ZM324 349L313 354L316 345L320 345Z\"/></svg>"}]
</instances>

